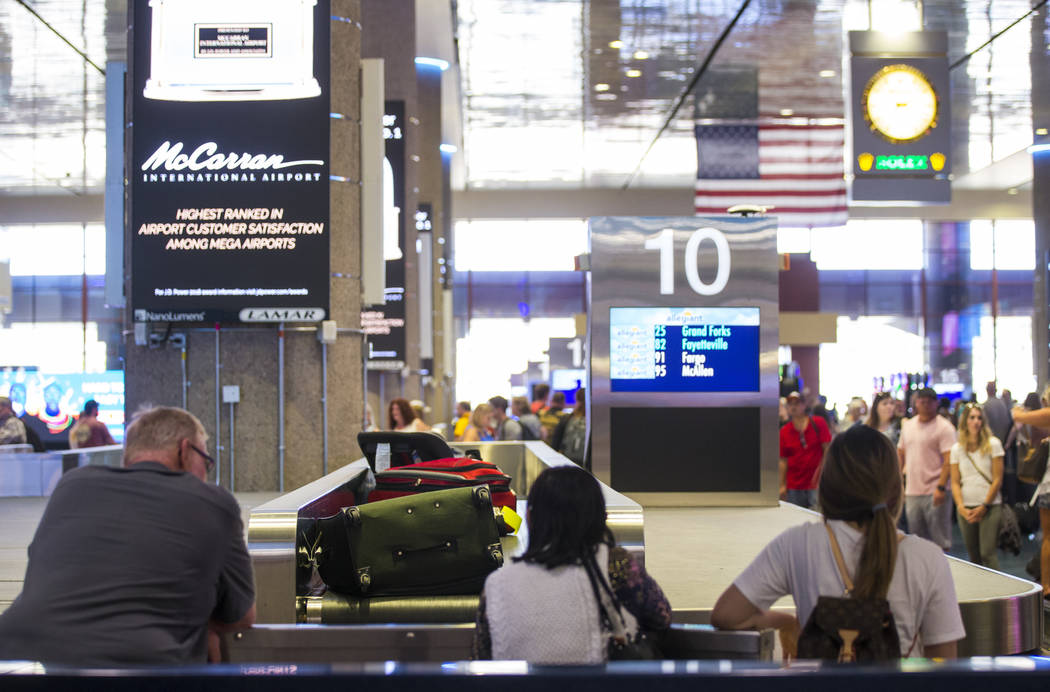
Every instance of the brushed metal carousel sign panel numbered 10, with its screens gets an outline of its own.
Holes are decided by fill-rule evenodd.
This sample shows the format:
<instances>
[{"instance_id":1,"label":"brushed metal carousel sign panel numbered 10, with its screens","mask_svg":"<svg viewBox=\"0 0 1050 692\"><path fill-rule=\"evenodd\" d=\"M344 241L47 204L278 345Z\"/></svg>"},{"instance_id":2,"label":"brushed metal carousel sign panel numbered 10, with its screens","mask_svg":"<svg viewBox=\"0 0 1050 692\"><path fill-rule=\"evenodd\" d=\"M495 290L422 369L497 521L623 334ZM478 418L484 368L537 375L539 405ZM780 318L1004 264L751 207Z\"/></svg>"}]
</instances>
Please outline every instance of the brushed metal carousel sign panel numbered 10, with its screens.
<instances>
[{"instance_id":1,"label":"brushed metal carousel sign panel numbered 10, with its screens","mask_svg":"<svg viewBox=\"0 0 1050 692\"><path fill-rule=\"evenodd\" d=\"M595 475L644 504L777 502L772 217L590 221Z\"/></svg>"}]
</instances>

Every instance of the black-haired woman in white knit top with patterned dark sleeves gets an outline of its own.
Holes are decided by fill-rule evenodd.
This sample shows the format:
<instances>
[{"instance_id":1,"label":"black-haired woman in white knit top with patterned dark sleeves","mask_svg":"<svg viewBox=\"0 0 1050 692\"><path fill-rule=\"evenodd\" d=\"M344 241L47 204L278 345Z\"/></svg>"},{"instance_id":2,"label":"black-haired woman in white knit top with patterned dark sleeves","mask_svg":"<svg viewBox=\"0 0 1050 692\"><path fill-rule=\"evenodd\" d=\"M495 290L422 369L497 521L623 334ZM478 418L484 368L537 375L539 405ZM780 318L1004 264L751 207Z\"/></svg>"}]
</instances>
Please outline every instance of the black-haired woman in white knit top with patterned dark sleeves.
<instances>
[{"instance_id":1,"label":"black-haired woman in white knit top with patterned dark sleeves","mask_svg":"<svg viewBox=\"0 0 1050 692\"><path fill-rule=\"evenodd\" d=\"M659 586L615 545L593 476L579 466L543 471L529 489L525 518L528 549L485 581L476 658L604 663L609 632L585 562L596 564L611 586L628 633L671 626L671 604Z\"/></svg>"}]
</instances>

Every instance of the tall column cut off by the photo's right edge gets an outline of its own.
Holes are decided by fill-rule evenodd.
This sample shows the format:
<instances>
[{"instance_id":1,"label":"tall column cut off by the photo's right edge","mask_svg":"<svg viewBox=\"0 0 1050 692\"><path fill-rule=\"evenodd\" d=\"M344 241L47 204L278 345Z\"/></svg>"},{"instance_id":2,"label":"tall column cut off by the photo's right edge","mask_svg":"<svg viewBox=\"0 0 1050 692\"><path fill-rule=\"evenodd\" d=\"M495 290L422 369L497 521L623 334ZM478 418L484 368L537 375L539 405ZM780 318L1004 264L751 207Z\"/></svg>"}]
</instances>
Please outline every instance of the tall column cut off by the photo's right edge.
<instances>
[{"instance_id":1,"label":"tall column cut off by the photo's right edge","mask_svg":"<svg viewBox=\"0 0 1050 692\"><path fill-rule=\"evenodd\" d=\"M1050 12L1046 6L1032 15L1032 127L1036 144L1050 144ZM1032 353L1040 389L1050 382L1050 151L1032 154L1032 218L1035 221L1035 275L1032 305Z\"/></svg>"}]
</instances>

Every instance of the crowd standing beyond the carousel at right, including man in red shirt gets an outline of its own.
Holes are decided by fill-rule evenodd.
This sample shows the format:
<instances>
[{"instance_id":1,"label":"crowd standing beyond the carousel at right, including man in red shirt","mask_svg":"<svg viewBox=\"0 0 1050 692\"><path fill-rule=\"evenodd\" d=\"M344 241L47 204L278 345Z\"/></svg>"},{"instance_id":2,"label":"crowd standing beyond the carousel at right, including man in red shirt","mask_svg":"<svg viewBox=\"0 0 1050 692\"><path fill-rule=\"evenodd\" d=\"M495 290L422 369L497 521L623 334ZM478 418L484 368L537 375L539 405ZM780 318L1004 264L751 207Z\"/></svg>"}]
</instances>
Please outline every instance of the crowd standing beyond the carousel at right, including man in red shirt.
<instances>
[{"instance_id":1,"label":"crowd standing beyond the carousel at right, including man in red shirt","mask_svg":"<svg viewBox=\"0 0 1050 692\"><path fill-rule=\"evenodd\" d=\"M952 402L930 387L909 391L906 399L880 392L870 406L855 397L839 421L822 397L807 402L792 392L781 399L780 498L817 508L821 462L833 437L873 428L900 458L900 527L947 551L953 518L970 561L998 569L1001 547L1020 551L1020 532L1011 538L1009 530L1018 513L1037 509L1043 534L1050 536L1050 479L1031 485L1017 478L1018 463L1050 429L1048 395L1050 387L1017 405L1008 390L998 394L995 382L987 383L980 403L975 394ZM1044 540L1029 572L1050 594L1050 541Z\"/></svg>"}]
</instances>

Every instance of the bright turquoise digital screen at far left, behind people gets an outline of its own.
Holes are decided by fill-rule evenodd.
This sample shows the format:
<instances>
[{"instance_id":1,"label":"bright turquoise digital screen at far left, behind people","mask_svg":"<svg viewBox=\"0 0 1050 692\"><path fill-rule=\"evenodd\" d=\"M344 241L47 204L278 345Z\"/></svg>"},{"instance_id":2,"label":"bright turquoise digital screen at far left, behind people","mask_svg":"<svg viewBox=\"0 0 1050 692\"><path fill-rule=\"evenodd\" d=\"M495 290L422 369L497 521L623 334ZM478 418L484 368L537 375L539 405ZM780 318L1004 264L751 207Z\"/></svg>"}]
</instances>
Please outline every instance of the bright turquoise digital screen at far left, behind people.
<instances>
[{"instance_id":1,"label":"bright turquoise digital screen at far left, behind people","mask_svg":"<svg viewBox=\"0 0 1050 692\"><path fill-rule=\"evenodd\" d=\"M0 371L0 396L10 399L15 415L50 449L69 446L69 428L90 399L99 402L99 420L113 439L124 440L124 371L4 370Z\"/></svg>"}]
</instances>

